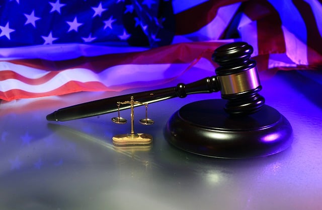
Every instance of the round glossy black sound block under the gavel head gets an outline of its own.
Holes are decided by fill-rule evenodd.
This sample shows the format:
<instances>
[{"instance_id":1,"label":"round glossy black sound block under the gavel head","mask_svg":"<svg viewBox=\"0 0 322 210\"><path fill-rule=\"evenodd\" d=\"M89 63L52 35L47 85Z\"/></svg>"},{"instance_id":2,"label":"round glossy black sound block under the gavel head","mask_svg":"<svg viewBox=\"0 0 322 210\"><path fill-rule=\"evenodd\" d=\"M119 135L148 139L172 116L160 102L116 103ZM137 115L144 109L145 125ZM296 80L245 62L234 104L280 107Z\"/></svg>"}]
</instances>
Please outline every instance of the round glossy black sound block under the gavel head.
<instances>
[{"instance_id":1,"label":"round glossy black sound block under the gavel head","mask_svg":"<svg viewBox=\"0 0 322 210\"><path fill-rule=\"evenodd\" d=\"M182 150L217 158L253 158L279 153L292 143L292 127L264 105L245 116L230 116L226 101L210 99L183 106L169 119L165 136Z\"/></svg>"}]
</instances>

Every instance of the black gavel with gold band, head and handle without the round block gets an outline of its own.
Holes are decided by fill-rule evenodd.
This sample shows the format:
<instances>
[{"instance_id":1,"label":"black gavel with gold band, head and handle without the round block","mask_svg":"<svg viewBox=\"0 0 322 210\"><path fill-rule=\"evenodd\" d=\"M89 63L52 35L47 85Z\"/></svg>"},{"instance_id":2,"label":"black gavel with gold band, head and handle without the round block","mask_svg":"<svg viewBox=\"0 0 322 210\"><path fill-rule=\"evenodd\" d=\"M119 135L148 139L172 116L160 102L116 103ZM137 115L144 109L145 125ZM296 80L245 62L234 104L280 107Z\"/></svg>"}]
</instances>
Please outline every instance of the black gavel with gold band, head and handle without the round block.
<instances>
[{"instance_id":1,"label":"black gavel with gold band, head and handle without the round block","mask_svg":"<svg viewBox=\"0 0 322 210\"><path fill-rule=\"evenodd\" d=\"M176 87L144 91L115 96L58 109L47 115L49 121L67 121L97 116L118 111L117 102L134 97L142 103L154 103L175 97L185 98L189 94L221 92L227 100L223 109L230 115L247 115L257 112L265 103L258 93L262 86L256 69L256 61L251 59L253 47L246 42L233 42L214 50L212 60L219 67L216 76L183 84ZM121 110L130 108L122 106Z\"/></svg>"}]
</instances>

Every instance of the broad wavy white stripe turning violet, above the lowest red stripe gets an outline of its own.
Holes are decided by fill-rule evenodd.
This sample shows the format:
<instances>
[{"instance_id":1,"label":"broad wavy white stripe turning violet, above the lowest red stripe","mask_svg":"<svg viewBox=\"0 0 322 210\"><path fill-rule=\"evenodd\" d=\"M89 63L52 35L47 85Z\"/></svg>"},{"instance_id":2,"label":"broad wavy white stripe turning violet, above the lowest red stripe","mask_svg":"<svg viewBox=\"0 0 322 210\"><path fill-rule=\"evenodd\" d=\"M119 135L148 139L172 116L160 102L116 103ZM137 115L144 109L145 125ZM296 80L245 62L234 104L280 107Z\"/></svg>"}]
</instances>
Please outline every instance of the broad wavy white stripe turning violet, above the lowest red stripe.
<instances>
[{"instance_id":1,"label":"broad wavy white stripe turning violet, above the lowest red stripe","mask_svg":"<svg viewBox=\"0 0 322 210\"><path fill-rule=\"evenodd\" d=\"M149 64L149 65L118 65L95 74L89 69L74 68L61 71L51 80L40 85L29 85L16 79L0 82L0 91L21 89L30 93L44 93L55 90L69 81L100 82L103 85L120 86L132 82L151 82L166 80L182 74L189 64Z\"/></svg>"}]
</instances>

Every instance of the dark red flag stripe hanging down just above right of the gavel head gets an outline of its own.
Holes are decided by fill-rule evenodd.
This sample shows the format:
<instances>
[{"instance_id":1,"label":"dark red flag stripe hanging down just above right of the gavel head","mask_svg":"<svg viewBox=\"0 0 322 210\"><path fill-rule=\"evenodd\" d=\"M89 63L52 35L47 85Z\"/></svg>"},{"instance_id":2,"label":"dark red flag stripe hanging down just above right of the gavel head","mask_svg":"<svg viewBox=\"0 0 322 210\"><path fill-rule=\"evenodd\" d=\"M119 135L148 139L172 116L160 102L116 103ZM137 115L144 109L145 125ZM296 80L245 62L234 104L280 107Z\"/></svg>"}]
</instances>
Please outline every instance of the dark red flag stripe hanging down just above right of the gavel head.
<instances>
[{"instance_id":1,"label":"dark red flag stripe hanging down just above right of the gavel head","mask_svg":"<svg viewBox=\"0 0 322 210\"><path fill-rule=\"evenodd\" d=\"M251 0L241 7L250 19L257 21L258 53L285 53L282 22L275 8L265 0Z\"/></svg>"}]
</instances>

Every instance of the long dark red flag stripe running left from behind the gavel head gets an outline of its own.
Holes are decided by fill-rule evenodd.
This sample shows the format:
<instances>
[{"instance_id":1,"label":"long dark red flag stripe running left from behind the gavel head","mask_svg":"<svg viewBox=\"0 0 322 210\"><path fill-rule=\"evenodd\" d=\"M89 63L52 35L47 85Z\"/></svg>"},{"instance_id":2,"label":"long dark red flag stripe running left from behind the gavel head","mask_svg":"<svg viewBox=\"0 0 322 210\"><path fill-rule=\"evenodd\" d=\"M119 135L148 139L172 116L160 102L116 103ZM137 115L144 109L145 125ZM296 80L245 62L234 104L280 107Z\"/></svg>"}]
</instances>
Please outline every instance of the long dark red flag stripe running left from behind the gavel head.
<instances>
[{"instance_id":1,"label":"long dark red flag stripe running left from behind the gavel head","mask_svg":"<svg viewBox=\"0 0 322 210\"><path fill-rule=\"evenodd\" d=\"M44 59L10 60L15 64L26 65L46 71L59 71L66 68L87 68L100 73L105 69L122 64L157 64L157 63L191 63L197 57L211 58L223 42L179 43L149 49L143 52L107 54L95 57L79 57L70 60L51 61ZM131 71L131 69L129 69Z\"/></svg>"}]
</instances>

